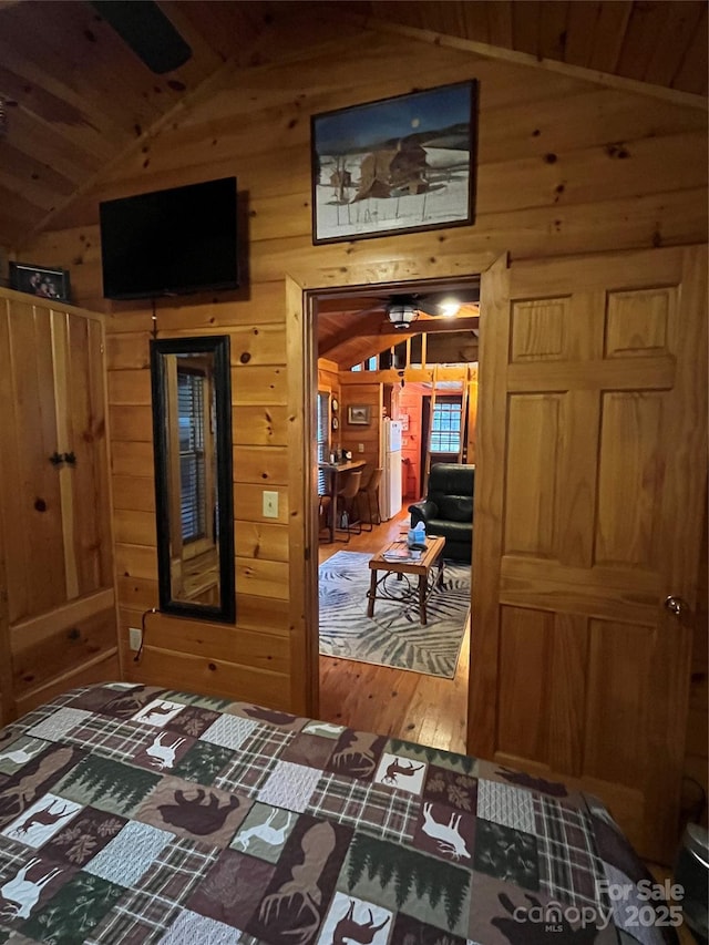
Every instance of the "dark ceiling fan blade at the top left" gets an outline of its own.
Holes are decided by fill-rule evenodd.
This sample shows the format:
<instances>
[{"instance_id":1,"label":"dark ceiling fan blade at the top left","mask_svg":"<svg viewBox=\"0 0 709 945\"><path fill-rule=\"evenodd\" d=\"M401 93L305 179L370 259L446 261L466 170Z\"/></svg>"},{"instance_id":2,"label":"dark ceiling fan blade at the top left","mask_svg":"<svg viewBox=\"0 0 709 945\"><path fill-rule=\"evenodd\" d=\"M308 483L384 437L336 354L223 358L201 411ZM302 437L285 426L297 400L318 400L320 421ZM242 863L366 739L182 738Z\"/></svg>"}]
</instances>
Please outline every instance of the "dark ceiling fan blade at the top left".
<instances>
[{"instance_id":1,"label":"dark ceiling fan blade at the top left","mask_svg":"<svg viewBox=\"0 0 709 945\"><path fill-rule=\"evenodd\" d=\"M94 10L152 71L184 65L192 49L153 0L91 0Z\"/></svg>"}]
</instances>

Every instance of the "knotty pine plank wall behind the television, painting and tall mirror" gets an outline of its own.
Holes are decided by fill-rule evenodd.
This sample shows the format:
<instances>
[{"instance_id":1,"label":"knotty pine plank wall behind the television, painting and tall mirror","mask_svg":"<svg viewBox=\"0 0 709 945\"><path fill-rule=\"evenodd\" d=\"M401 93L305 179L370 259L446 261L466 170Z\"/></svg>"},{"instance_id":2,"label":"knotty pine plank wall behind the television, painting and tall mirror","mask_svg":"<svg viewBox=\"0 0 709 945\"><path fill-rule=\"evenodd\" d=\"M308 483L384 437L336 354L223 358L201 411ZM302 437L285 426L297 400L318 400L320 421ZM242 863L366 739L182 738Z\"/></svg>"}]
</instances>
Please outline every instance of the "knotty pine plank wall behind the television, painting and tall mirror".
<instances>
[{"instance_id":1,"label":"knotty pine plank wall behind the television, painting and tall mirror","mask_svg":"<svg viewBox=\"0 0 709 945\"><path fill-rule=\"evenodd\" d=\"M76 300L107 310L121 645L156 605L146 306L102 299L97 201L236 174L242 195L243 290L160 301L160 337L232 338L237 624L150 615L131 679L152 679L302 709L308 700L304 609L308 523L298 454L307 366L304 290L460 277L503 253L549 257L707 238L707 125L699 109L411 35L302 24L282 59L225 73L154 140L64 214L65 228L24 258L68 266ZM309 116L411 90L480 80L476 219L458 227L314 247ZM286 277L291 281L287 283ZM289 288L287 289L287 285ZM288 295L290 292L290 295ZM314 359L315 362L315 359ZM314 382L315 383L315 382ZM358 441L359 442L359 441ZM263 520L261 490L281 516Z\"/></svg>"}]
</instances>

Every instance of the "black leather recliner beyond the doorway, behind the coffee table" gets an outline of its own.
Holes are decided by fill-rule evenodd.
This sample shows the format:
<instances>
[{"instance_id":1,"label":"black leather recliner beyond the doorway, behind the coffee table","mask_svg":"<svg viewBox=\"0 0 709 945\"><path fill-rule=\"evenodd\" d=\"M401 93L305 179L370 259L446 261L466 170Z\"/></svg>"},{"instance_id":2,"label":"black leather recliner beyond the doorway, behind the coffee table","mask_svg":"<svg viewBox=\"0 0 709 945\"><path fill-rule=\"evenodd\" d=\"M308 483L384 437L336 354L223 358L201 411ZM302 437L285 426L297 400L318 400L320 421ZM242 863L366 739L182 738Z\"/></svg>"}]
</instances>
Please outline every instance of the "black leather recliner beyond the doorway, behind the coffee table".
<instances>
[{"instance_id":1,"label":"black leather recliner beyond the doorway, behind the coffee table","mask_svg":"<svg viewBox=\"0 0 709 945\"><path fill-rule=\"evenodd\" d=\"M445 558L471 561L474 490L475 466L435 463L429 474L427 497L409 506L411 527L423 522L427 535L445 538Z\"/></svg>"}]
</instances>

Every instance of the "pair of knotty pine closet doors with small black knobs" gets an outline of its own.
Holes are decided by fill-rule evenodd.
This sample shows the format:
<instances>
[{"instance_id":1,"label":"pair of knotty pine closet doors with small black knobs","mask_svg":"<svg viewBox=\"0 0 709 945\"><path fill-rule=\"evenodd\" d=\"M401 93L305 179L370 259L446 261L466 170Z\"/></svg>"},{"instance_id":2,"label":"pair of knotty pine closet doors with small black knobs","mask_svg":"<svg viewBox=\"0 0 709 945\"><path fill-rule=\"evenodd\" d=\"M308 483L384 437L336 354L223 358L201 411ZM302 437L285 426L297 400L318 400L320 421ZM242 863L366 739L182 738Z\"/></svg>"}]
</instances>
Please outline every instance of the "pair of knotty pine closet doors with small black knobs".
<instances>
[{"instance_id":1,"label":"pair of knotty pine closet doors with small black knobs","mask_svg":"<svg viewBox=\"0 0 709 945\"><path fill-rule=\"evenodd\" d=\"M10 626L112 584L102 345L97 321L3 300L0 521ZM53 464L54 454L63 461Z\"/></svg>"}]
</instances>

